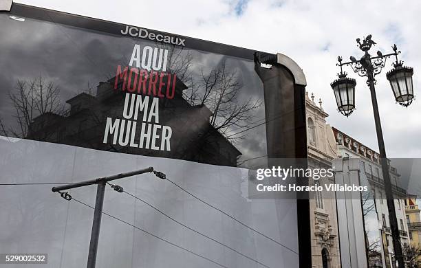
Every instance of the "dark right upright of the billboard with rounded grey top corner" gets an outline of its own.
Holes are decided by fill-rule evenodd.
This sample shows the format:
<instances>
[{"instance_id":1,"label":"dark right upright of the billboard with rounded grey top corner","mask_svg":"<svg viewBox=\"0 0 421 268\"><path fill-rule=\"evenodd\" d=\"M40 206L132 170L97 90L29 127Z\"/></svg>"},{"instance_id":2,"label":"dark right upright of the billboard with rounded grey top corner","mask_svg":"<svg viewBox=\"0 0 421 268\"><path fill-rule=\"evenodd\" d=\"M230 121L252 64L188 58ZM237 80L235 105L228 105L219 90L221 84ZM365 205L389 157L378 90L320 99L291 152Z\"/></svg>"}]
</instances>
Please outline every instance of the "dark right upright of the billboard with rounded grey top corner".
<instances>
[{"instance_id":1,"label":"dark right upright of the billboard with rounded grey top corner","mask_svg":"<svg viewBox=\"0 0 421 268\"><path fill-rule=\"evenodd\" d=\"M256 52L254 56L255 71L264 89L268 166L280 166L279 159L289 158L295 159L293 166L307 168L305 76L285 55ZM281 142L279 137L282 137ZM296 183L308 185L308 181L300 177L296 178ZM312 267L309 200L308 192L296 192L300 268Z\"/></svg>"}]
</instances>

